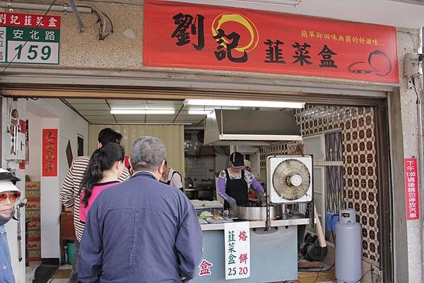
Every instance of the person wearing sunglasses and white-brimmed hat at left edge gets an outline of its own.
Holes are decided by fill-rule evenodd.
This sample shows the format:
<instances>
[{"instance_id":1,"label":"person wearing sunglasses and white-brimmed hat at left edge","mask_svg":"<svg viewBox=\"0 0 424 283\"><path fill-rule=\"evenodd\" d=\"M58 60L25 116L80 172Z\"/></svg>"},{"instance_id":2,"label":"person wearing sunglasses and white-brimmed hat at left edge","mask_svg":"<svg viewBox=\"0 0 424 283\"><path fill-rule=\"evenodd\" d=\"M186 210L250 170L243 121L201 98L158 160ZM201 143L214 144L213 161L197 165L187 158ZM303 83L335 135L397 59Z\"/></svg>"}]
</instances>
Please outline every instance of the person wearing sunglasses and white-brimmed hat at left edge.
<instances>
[{"instance_id":1,"label":"person wearing sunglasses and white-brimmed hat at left edge","mask_svg":"<svg viewBox=\"0 0 424 283\"><path fill-rule=\"evenodd\" d=\"M15 214L15 203L20 198L20 190L15 186L16 178L11 172L0 168L0 282L15 283L13 276L11 253L8 248L6 228Z\"/></svg>"}]
</instances>

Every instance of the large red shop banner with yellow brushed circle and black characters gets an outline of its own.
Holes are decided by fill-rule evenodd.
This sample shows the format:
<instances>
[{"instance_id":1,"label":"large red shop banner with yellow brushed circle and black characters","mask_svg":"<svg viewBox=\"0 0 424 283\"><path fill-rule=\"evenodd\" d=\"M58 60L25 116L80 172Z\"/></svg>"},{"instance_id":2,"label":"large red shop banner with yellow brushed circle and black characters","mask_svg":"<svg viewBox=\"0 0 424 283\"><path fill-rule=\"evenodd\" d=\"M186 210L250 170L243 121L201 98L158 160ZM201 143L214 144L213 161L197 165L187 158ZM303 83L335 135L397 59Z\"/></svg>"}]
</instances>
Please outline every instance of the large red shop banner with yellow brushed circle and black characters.
<instances>
[{"instance_id":1,"label":"large red shop banner with yellow brushed circle and black characters","mask_svg":"<svg viewBox=\"0 0 424 283\"><path fill-rule=\"evenodd\" d=\"M158 0L143 64L399 83L394 27Z\"/></svg>"}]
</instances>

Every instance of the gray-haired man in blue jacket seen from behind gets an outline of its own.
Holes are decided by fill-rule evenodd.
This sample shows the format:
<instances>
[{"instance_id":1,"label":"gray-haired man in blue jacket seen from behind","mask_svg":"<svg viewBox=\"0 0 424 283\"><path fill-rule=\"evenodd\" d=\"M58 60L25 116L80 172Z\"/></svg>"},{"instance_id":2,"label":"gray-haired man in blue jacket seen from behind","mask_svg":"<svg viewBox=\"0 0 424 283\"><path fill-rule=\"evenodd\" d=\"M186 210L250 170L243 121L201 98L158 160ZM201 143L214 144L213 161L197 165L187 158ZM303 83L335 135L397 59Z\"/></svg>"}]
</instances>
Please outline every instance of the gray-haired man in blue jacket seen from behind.
<instances>
[{"instance_id":1,"label":"gray-haired man in blue jacket seen from behind","mask_svg":"<svg viewBox=\"0 0 424 283\"><path fill-rule=\"evenodd\" d=\"M199 220L184 193L158 181L165 155L158 138L139 138L131 148L131 179L93 203L80 246L82 283L179 283L196 275Z\"/></svg>"}]
</instances>

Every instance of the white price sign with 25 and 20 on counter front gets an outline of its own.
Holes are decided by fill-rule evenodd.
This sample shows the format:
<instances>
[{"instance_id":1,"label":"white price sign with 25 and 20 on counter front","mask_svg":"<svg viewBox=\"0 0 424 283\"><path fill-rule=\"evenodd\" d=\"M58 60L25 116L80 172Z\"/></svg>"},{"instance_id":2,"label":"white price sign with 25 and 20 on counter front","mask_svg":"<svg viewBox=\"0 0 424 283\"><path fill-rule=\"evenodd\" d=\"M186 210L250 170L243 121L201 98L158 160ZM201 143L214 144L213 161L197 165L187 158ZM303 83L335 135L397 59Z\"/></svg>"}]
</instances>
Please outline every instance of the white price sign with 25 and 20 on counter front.
<instances>
[{"instance_id":1,"label":"white price sign with 25 and 20 on counter front","mask_svg":"<svg viewBox=\"0 0 424 283\"><path fill-rule=\"evenodd\" d=\"M225 223L225 279L250 277L249 222Z\"/></svg>"}]
</instances>

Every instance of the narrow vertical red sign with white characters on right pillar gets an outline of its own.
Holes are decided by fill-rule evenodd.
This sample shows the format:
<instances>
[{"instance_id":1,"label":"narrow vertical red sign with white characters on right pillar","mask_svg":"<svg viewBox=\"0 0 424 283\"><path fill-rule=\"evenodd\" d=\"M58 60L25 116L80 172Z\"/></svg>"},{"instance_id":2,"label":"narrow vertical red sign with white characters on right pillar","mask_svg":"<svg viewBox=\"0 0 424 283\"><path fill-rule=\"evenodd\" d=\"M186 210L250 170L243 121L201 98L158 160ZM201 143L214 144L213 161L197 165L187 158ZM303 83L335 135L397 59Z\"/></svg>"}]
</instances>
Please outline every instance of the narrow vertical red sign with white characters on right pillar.
<instances>
[{"instance_id":1,"label":"narrow vertical red sign with white characters on right pillar","mask_svg":"<svg viewBox=\"0 0 424 283\"><path fill-rule=\"evenodd\" d=\"M405 158L406 219L420 219L418 199L417 159Z\"/></svg>"}]
</instances>

